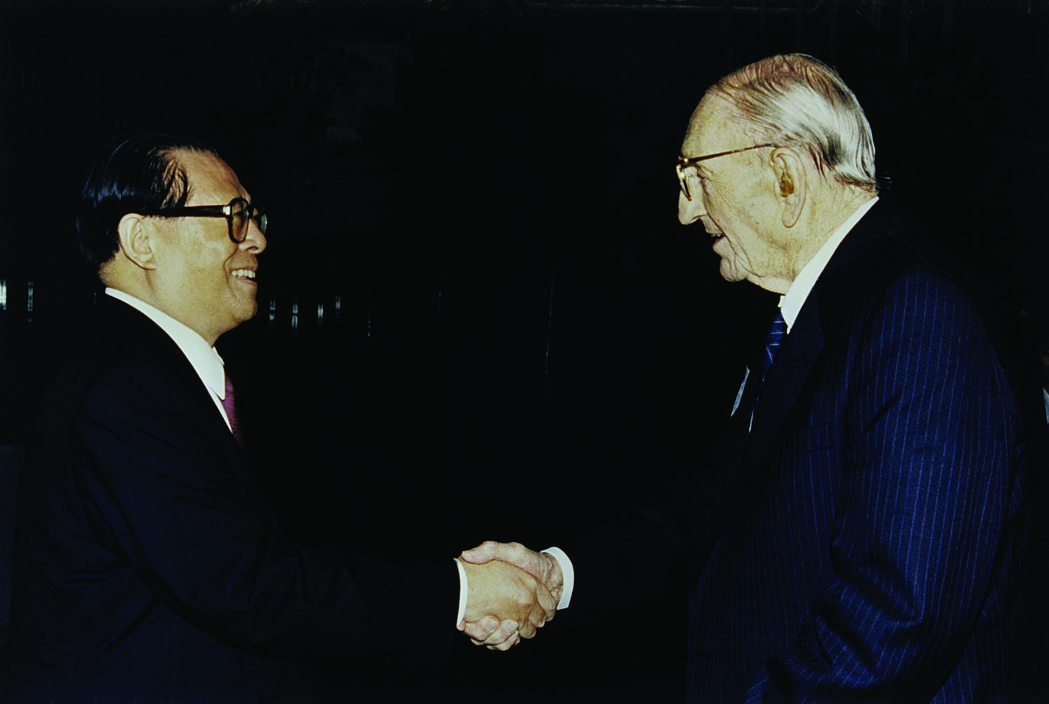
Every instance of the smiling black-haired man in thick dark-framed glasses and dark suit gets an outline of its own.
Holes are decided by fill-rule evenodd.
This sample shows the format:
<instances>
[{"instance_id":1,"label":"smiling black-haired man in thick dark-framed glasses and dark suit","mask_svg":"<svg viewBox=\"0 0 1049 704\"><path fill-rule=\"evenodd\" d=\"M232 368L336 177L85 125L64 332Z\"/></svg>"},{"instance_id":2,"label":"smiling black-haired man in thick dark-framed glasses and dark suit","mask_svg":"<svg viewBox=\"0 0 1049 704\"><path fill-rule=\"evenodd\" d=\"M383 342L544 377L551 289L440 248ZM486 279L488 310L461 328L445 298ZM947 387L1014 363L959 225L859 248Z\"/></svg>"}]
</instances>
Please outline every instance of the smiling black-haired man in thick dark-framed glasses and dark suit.
<instances>
[{"instance_id":1,"label":"smiling black-haired man in thick dark-framed glasses and dark suit","mask_svg":"<svg viewBox=\"0 0 1049 704\"><path fill-rule=\"evenodd\" d=\"M545 588L508 564L403 564L281 536L214 348L255 314L266 216L212 149L114 141L81 206L81 249L107 289L23 474L10 701L303 701L293 660L440 649L456 600L459 630L497 649L552 617Z\"/></svg>"}]
</instances>

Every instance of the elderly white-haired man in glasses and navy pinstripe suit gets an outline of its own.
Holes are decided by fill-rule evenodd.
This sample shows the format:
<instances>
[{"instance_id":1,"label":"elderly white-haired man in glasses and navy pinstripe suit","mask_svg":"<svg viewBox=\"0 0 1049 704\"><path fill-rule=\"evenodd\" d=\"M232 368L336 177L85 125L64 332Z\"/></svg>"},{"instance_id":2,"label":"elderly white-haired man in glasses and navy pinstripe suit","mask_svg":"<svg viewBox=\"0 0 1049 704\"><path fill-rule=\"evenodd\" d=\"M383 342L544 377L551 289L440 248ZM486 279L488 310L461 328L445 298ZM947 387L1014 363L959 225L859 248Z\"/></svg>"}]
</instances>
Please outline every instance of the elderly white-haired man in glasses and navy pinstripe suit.
<instances>
[{"instance_id":1,"label":"elderly white-haired man in glasses and navy pinstripe suit","mask_svg":"<svg viewBox=\"0 0 1049 704\"><path fill-rule=\"evenodd\" d=\"M743 380L711 471L559 541L571 564L516 543L465 555L571 593L570 618L685 574L690 702L1022 694L1015 402L972 303L879 200L874 154L855 94L811 57L712 86L678 159L679 219L724 278L780 299L764 350L718 370Z\"/></svg>"}]
</instances>

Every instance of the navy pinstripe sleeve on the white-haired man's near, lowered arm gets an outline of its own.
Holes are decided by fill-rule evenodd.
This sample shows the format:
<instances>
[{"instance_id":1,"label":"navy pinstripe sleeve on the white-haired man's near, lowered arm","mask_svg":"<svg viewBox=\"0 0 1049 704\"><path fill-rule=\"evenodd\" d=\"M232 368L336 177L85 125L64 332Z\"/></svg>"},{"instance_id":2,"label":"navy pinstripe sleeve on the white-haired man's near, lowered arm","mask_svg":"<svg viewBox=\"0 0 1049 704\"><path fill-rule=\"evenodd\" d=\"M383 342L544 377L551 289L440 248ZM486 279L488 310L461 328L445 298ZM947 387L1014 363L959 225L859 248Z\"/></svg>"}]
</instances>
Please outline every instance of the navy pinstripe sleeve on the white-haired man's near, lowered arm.
<instances>
[{"instance_id":1,"label":"navy pinstripe sleeve on the white-haired man's near, lowered arm","mask_svg":"<svg viewBox=\"0 0 1049 704\"><path fill-rule=\"evenodd\" d=\"M971 304L912 273L851 334L835 579L747 702L927 701L994 609L1019 460L1011 393Z\"/></svg>"}]
</instances>

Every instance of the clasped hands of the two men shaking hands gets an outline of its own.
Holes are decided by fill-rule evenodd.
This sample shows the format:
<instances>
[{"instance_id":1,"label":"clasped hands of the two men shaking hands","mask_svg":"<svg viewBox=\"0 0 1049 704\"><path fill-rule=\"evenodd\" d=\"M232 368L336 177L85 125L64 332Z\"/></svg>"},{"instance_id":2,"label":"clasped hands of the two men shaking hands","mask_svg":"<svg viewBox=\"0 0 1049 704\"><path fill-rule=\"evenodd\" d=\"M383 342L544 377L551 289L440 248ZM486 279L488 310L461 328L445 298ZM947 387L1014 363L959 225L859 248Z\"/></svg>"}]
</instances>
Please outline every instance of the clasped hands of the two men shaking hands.
<instances>
[{"instance_id":1,"label":"clasped hands of the two men shaking hands","mask_svg":"<svg viewBox=\"0 0 1049 704\"><path fill-rule=\"evenodd\" d=\"M564 591L561 566L519 542L489 540L459 555L466 613L458 630L475 645L508 650L554 618Z\"/></svg>"}]
</instances>

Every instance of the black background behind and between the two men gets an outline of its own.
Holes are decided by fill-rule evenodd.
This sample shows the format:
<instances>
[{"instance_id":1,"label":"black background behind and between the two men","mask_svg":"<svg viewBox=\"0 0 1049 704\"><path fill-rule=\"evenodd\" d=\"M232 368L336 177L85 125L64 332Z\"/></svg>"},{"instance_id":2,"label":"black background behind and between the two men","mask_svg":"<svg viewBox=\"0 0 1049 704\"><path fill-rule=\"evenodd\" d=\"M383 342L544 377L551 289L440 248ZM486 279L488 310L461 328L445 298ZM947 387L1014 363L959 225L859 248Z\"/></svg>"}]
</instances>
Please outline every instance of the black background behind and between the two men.
<instances>
[{"instance_id":1,"label":"black background behind and between the two men","mask_svg":"<svg viewBox=\"0 0 1049 704\"><path fill-rule=\"evenodd\" d=\"M928 222L1036 392L1045 0L0 7L5 457L99 295L72 234L84 170L116 133L167 130L211 142L270 213L259 315L219 348L291 535L450 558L600 526L702 471L774 305L678 225L673 161L706 87L778 51L839 69L883 194ZM324 665L365 700L678 701L683 625L678 600L624 601L509 654Z\"/></svg>"}]
</instances>

